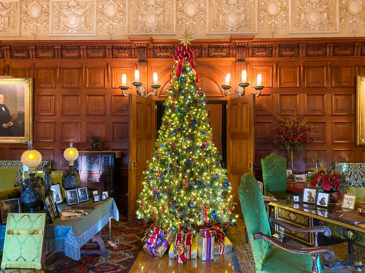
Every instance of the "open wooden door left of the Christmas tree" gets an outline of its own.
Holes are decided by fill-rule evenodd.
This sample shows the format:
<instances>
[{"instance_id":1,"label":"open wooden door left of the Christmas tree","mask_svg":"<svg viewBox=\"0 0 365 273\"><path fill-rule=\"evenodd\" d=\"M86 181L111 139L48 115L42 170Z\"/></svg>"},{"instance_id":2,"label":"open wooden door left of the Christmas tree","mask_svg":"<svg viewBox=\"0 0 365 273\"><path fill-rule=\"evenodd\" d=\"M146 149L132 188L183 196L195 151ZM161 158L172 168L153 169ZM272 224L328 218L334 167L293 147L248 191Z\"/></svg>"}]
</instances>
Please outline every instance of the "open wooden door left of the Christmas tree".
<instances>
[{"instance_id":1,"label":"open wooden door left of the Christmas tree","mask_svg":"<svg viewBox=\"0 0 365 273\"><path fill-rule=\"evenodd\" d=\"M142 191L143 171L151 159L155 144L155 101L129 95L129 149L128 149L128 220L136 217L139 193Z\"/></svg>"}]
</instances>

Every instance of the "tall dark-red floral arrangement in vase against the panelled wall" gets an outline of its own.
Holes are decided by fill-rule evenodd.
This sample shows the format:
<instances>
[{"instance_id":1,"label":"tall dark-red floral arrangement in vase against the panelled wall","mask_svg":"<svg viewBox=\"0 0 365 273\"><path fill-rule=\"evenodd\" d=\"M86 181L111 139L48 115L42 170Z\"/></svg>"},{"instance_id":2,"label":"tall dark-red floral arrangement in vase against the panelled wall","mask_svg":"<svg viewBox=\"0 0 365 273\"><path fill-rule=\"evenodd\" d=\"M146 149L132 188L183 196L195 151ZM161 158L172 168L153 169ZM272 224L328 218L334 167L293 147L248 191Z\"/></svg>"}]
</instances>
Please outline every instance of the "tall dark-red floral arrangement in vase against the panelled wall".
<instances>
[{"instance_id":1,"label":"tall dark-red floral arrangement in vase against the panelled wall","mask_svg":"<svg viewBox=\"0 0 365 273\"><path fill-rule=\"evenodd\" d=\"M315 141L312 130L315 127L307 125L308 118L301 121L297 120L297 114L291 114L287 119L277 116L278 126L274 128L272 138L274 143L287 149L293 168L294 151Z\"/></svg>"}]
</instances>

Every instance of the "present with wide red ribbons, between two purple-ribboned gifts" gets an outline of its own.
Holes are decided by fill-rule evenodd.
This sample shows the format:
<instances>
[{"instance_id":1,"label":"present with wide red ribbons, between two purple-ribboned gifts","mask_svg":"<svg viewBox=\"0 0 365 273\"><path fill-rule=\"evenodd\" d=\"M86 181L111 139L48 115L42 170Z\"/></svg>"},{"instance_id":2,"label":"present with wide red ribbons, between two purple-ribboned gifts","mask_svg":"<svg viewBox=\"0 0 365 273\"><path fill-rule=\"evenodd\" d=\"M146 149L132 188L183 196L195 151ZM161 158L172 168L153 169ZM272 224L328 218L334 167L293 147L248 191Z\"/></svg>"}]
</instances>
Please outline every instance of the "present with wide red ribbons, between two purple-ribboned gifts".
<instances>
[{"instance_id":1,"label":"present with wide red ribbons, between two purple-ribboned gifts","mask_svg":"<svg viewBox=\"0 0 365 273\"><path fill-rule=\"evenodd\" d=\"M169 258L183 264L186 260L196 260L198 257L198 241L192 234L177 234L170 245Z\"/></svg>"}]
</instances>

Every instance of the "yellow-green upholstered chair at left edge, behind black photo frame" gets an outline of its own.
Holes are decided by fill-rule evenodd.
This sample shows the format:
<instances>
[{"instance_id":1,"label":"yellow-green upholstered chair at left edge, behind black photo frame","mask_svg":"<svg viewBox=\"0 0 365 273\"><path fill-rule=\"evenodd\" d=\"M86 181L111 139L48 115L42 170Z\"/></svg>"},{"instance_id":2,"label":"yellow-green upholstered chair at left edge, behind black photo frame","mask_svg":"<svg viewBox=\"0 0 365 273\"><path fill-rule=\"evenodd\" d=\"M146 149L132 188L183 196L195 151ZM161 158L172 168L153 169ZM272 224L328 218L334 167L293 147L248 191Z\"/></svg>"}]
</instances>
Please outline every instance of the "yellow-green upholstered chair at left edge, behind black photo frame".
<instances>
[{"instance_id":1,"label":"yellow-green upholstered chair at left edge, behind black photo frame","mask_svg":"<svg viewBox=\"0 0 365 273\"><path fill-rule=\"evenodd\" d=\"M0 200L20 197L20 187L14 187L18 168L0 168Z\"/></svg>"}]
</instances>

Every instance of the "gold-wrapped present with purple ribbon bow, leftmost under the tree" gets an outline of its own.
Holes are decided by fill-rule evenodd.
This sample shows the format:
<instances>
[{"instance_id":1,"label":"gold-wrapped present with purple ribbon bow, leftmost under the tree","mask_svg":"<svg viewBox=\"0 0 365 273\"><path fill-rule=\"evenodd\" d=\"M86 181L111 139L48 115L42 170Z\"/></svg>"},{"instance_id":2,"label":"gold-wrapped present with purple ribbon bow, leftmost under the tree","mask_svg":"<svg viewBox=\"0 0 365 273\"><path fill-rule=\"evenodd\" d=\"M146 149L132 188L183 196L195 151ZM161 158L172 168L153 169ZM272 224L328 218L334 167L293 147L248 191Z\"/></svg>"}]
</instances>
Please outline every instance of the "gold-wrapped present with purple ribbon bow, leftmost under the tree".
<instances>
[{"instance_id":1,"label":"gold-wrapped present with purple ribbon bow, leftmost under the tree","mask_svg":"<svg viewBox=\"0 0 365 273\"><path fill-rule=\"evenodd\" d=\"M164 232L157 226L154 226L153 232L148 234L146 244L143 246L143 250L147 254L162 258L166 250L169 248L173 240L171 232Z\"/></svg>"}]
</instances>

